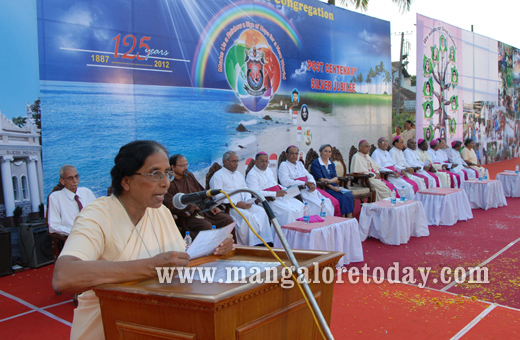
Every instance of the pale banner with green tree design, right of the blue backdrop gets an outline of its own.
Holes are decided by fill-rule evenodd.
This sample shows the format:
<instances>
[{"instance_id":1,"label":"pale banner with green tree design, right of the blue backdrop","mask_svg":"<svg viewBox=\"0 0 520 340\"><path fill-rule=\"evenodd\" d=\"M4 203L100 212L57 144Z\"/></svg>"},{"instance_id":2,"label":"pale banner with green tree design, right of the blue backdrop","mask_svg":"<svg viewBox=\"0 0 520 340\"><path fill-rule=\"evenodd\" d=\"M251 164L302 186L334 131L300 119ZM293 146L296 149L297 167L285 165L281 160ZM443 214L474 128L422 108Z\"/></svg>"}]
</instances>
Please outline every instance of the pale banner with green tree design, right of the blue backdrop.
<instances>
[{"instance_id":1,"label":"pale banner with green tree design, right of the blue backdrop","mask_svg":"<svg viewBox=\"0 0 520 340\"><path fill-rule=\"evenodd\" d=\"M482 164L519 156L517 48L418 14L417 56L417 138L471 138Z\"/></svg>"}]
</instances>

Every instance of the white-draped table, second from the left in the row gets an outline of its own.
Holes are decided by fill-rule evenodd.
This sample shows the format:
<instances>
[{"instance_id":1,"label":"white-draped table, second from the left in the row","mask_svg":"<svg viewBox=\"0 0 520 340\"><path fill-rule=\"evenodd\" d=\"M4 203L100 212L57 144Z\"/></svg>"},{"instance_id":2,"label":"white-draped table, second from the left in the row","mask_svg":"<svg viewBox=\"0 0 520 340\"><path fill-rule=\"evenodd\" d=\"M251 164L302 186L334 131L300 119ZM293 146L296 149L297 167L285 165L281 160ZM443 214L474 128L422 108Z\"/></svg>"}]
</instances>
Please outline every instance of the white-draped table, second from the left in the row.
<instances>
[{"instance_id":1,"label":"white-draped table, second from the left in the row","mask_svg":"<svg viewBox=\"0 0 520 340\"><path fill-rule=\"evenodd\" d=\"M430 231L421 202L398 202L392 207L390 201L383 200L363 204L359 216L359 234L362 241L370 236L385 244L399 245L408 243L411 236L428 236Z\"/></svg>"}]
</instances>

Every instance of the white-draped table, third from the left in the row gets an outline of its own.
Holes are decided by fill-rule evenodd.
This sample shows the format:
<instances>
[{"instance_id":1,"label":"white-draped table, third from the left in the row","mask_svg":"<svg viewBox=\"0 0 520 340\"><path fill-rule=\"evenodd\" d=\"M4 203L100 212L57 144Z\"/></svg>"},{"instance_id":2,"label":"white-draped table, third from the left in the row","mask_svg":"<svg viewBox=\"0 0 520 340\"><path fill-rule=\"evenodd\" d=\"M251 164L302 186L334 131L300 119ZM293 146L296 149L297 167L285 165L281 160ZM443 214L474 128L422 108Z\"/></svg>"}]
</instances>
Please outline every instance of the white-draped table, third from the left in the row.
<instances>
[{"instance_id":1,"label":"white-draped table, third from the left in the row","mask_svg":"<svg viewBox=\"0 0 520 340\"><path fill-rule=\"evenodd\" d=\"M419 190L415 199L422 202L428 225L454 225L473 218L468 195L462 189Z\"/></svg>"}]
</instances>

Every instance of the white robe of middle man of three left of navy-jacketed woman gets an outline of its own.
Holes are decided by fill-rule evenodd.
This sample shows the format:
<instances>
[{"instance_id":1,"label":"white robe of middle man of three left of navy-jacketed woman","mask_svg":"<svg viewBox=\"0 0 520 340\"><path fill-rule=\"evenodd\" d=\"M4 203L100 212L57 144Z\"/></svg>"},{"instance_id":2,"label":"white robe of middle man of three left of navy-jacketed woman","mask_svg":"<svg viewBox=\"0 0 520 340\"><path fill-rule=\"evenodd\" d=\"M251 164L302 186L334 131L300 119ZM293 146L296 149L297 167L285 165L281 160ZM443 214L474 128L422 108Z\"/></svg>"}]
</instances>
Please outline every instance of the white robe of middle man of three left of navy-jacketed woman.
<instances>
[{"instance_id":1,"label":"white robe of middle man of three left of navy-jacketed woman","mask_svg":"<svg viewBox=\"0 0 520 340\"><path fill-rule=\"evenodd\" d=\"M276 191L263 191L278 185L271 169L260 170L254 166L247 174L246 184L251 189L262 191L264 197L273 197L275 199L269 202L269 205L281 226L295 222L297 218L303 217L303 203L296 198L276 197ZM280 187L282 190L287 189L284 186Z\"/></svg>"}]
</instances>

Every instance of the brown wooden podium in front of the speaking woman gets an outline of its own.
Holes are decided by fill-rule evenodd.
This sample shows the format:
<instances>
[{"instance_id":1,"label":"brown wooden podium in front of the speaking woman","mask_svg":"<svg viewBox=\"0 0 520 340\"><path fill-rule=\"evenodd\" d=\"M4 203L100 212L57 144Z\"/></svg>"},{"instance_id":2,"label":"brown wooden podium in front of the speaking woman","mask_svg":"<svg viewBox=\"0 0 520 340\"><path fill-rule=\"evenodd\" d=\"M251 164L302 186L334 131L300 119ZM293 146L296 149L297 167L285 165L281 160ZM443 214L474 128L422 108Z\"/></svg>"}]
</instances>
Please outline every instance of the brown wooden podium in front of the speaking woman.
<instances>
[{"instance_id":1,"label":"brown wooden podium in front of the speaking woman","mask_svg":"<svg viewBox=\"0 0 520 340\"><path fill-rule=\"evenodd\" d=\"M285 252L277 255L290 266ZM314 280L318 263L319 283L309 283L320 309L330 325L334 282L326 284L321 275L335 266L342 252L295 250L301 267ZM222 258L222 257L220 257ZM191 266L216 260L209 256ZM232 261L275 262L265 248L237 247L225 257ZM282 266L277 267L281 278ZM331 270L327 269L328 274ZM265 279L266 273L262 273ZM326 275L330 277L330 275ZM249 282L249 281L248 281ZM103 326L110 339L320 339L309 307L296 285L282 288L278 283L159 283L158 279L110 284L94 289L99 297Z\"/></svg>"}]
</instances>

